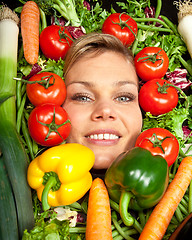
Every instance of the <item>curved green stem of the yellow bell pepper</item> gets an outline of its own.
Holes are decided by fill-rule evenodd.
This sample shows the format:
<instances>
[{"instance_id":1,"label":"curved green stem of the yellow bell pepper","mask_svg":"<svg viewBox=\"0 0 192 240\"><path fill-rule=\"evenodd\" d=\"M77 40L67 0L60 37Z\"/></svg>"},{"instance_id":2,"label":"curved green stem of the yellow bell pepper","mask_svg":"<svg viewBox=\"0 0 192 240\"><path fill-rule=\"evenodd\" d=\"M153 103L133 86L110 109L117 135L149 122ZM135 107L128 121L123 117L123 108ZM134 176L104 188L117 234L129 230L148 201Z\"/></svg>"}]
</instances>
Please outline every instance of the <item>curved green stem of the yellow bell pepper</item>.
<instances>
[{"instance_id":1,"label":"curved green stem of the yellow bell pepper","mask_svg":"<svg viewBox=\"0 0 192 240\"><path fill-rule=\"evenodd\" d=\"M41 202L43 211L47 211L50 208L50 205L48 203L48 193L51 190L52 187L54 187L57 184L57 180L54 176L50 176L48 181L45 184L45 187L42 192L41 196Z\"/></svg>"}]
</instances>

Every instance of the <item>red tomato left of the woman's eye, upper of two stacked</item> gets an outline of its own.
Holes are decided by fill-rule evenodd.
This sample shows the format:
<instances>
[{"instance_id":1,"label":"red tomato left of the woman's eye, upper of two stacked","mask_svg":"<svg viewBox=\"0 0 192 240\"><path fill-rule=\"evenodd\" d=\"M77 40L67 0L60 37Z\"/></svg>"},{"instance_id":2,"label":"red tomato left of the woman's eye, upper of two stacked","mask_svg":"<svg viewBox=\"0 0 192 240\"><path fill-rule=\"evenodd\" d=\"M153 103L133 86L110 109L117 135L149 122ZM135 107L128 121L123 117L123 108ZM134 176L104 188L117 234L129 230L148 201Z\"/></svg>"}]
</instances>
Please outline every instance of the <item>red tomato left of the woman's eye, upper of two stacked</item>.
<instances>
[{"instance_id":1,"label":"red tomato left of the woman's eye, upper of two stacked","mask_svg":"<svg viewBox=\"0 0 192 240\"><path fill-rule=\"evenodd\" d=\"M26 92L30 102L34 106L44 103L63 104L66 98L66 86L64 80L55 73L42 72L33 75L29 82L42 81L27 84Z\"/></svg>"}]
</instances>

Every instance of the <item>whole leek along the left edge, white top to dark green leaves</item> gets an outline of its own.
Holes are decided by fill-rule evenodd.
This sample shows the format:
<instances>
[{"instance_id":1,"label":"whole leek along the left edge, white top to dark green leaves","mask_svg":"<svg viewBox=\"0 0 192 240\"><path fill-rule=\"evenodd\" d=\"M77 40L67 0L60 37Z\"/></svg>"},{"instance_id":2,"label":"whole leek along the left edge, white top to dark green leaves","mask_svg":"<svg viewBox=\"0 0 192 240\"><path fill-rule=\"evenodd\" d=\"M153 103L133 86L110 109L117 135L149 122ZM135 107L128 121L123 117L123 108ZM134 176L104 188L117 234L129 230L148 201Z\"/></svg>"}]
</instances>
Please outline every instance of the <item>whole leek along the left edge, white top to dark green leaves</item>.
<instances>
[{"instance_id":1,"label":"whole leek along the left edge, white top to dark green leaves","mask_svg":"<svg viewBox=\"0 0 192 240\"><path fill-rule=\"evenodd\" d=\"M13 190L21 238L25 229L33 227L34 216L26 179L28 156L16 130L16 81L13 78L17 76L18 23L14 12L5 6L0 8L0 152ZM0 207L4 207L2 204L0 199Z\"/></svg>"}]
</instances>

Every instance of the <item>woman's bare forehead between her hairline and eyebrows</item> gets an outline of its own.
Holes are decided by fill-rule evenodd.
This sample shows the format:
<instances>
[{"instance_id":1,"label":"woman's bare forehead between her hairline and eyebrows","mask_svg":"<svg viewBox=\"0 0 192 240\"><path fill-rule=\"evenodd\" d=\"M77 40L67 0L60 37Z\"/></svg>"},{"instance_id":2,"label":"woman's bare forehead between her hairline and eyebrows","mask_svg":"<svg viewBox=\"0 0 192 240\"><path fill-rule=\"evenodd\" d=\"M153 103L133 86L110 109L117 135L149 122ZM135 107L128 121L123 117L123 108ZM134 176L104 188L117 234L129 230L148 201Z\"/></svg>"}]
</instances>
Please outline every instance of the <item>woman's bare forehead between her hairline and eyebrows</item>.
<instances>
[{"instance_id":1,"label":"woman's bare forehead between her hairline and eyebrows","mask_svg":"<svg viewBox=\"0 0 192 240\"><path fill-rule=\"evenodd\" d=\"M104 52L102 54L86 55L79 59L69 70L66 83L71 81L128 81L136 83L138 77L134 65L122 54Z\"/></svg>"}]
</instances>

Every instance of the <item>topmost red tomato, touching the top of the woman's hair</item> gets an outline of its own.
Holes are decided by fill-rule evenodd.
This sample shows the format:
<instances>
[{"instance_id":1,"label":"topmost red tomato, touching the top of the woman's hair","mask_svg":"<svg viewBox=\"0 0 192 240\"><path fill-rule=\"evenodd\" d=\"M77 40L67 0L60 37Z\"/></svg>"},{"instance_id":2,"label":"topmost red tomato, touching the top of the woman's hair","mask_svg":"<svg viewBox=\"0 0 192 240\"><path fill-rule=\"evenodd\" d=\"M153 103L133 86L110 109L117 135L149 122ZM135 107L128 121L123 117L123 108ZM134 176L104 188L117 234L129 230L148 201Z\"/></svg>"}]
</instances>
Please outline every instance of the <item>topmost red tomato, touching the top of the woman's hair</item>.
<instances>
[{"instance_id":1,"label":"topmost red tomato, touching the top of the woman's hair","mask_svg":"<svg viewBox=\"0 0 192 240\"><path fill-rule=\"evenodd\" d=\"M137 23L125 13L113 13L104 21L102 32L114 35L124 45L130 46L137 35Z\"/></svg>"}]
</instances>

